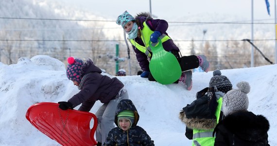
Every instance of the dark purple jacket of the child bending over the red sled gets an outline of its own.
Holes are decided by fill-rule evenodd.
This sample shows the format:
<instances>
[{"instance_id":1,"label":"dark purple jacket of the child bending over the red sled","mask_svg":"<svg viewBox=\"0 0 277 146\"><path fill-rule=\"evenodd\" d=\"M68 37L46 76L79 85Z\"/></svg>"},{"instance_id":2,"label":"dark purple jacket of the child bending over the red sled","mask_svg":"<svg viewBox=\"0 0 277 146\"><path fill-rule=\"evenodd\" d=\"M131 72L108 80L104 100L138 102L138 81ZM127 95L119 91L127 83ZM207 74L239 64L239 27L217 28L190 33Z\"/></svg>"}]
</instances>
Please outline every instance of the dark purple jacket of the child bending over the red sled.
<instances>
[{"instance_id":1,"label":"dark purple jacket of the child bending over the red sled","mask_svg":"<svg viewBox=\"0 0 277 146\"><path fill-rule=\"evenodd\" d=\"M108 103L116 98L119 91L124 87L123 83L116 77L102 75L100 68L94 65L92 60L88 59L81 68L81 83L79 91L69 99L73 108L80 105L81 111L89 111L95 101Z\"/></svg>"}]
</instances>

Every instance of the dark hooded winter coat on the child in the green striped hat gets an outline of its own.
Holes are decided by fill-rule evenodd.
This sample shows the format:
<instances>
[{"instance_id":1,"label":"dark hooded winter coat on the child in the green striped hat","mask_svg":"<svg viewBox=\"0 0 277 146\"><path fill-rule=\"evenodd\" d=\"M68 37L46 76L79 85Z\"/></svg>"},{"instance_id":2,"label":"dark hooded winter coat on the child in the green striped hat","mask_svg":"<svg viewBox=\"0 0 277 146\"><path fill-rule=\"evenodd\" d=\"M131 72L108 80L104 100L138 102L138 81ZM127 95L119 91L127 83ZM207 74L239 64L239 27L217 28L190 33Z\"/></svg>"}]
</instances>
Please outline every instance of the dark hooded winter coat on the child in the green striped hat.
<instances>
[{"instance_id":1,"label":"dark hooded winter coat on the child in the green striped hat","mask_svg":"<svg viewBox=\"0 0 277 146\"><path fill-rule=\"evenodd\" d=\"M119 128L118 117L119 112L123 110L132 110L135 115L134 123L127 131ZM117 106L115 114L116 128L113 128L104 143L104 146L155 146L146 131L137 126L139 120L138 110L130 99L123 99Z\"/></svg>"}]
</instances>

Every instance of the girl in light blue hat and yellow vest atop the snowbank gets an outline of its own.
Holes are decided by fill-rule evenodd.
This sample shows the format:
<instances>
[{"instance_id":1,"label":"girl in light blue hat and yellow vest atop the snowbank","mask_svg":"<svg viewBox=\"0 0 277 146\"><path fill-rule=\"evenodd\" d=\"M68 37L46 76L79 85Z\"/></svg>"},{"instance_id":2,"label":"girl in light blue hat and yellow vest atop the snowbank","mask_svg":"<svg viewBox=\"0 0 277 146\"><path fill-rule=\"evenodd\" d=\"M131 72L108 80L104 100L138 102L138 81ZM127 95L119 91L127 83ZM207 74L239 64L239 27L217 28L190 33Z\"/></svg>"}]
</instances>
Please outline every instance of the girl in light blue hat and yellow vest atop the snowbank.
<instances>
[{"instance_id":1,"label":"girl in light blue hat and yellow vest atop the snowbank","mask_svg":"<svg viewBox=\"0 0 277 146\"><path fill-rule=\"evenodd\" d=\"M128 39L132 44L139 66L143 71L140 74L141 77L148 77L150 81L155 81L149 69L149 60L151 59L152 52L148 49L148 46L149 40L156 43L158 37L162 40L164 50L171 52L180 64L182 75L175 83L183 82L186 84L187 90L191 90L192 72L190 70L200 66L203 71L208 72L209 62L205 55L179 55L179 48L166 33L168 28L166 20L153 19L149 13L140 13L134 18L125 11L117 18L116 23L121 25L125 33L128 34Z\"/></svg>"}]
</instances>

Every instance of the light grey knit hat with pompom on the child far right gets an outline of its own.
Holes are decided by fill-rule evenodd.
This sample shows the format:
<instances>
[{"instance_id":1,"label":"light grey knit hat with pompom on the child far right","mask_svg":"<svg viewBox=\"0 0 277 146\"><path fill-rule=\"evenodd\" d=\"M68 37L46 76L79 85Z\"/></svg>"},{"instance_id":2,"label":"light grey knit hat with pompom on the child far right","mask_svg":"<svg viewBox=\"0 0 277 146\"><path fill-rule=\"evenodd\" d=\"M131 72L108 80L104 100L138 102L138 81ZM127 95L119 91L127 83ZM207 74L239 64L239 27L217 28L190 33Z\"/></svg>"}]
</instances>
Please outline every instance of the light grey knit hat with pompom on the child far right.
<instances>
[{"instance_id":1,"label":"light grey knit hat with pompom on the child far right","mask_svg":"<svg viewBox=\"0 0 277 146\"><path fill-rule=\"evenodd\" d=\"M223 97L222 107L225 116L234 111L248 109L247 93L250 91L250 85L242 81L237 84L237 87L238 89L228 91Z\"/></svg>"}]
</instances>

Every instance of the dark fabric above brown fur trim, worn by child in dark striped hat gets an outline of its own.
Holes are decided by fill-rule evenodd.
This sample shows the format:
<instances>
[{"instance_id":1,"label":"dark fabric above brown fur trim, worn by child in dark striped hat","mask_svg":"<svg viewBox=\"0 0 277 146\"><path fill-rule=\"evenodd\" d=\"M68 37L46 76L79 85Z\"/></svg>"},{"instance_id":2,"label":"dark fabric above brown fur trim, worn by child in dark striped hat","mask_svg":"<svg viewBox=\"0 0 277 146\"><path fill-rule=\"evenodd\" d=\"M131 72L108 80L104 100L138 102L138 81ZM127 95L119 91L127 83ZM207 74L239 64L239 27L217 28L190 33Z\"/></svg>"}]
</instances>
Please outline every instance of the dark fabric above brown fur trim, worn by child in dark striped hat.
<instances>
[{"instance_id":1,"label":"dark fabric above brown fur trim, worn by child in dark striped hat","mask_svg":"<svg viewBox=\"0 0 277 146\"><path fill-rule=\"evenodd\" d=\"M215 111L218 103L216 101L215 91L217 91L215 87L207 87L198 91L196 93L196 100L183 108L186 117L188 119L216 119Z\"/></svg>"}]
</instances>

